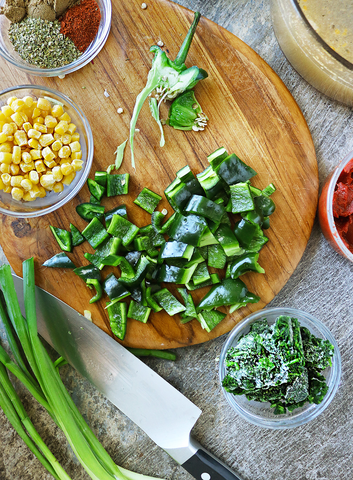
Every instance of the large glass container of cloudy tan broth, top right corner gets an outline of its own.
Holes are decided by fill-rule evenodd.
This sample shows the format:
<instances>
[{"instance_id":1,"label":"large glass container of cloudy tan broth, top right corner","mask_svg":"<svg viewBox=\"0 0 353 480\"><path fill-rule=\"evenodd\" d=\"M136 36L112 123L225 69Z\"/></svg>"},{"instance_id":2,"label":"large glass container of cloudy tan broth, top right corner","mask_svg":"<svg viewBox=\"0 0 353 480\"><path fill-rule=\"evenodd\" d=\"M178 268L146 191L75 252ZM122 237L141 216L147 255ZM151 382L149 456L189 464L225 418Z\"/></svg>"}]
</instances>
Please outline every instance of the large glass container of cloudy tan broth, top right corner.
<instances>
[{"instance_id":1,"label":"large glass container of cloudy tan broth, top right corner","mask_svg":"<svg viewBox=\"0 0 353 480\"><path fill-rule=\"evenodd\" d=\"M353 105L352 49L346 48L352 2L337 2L337 8L331 8L335 2L316 0L308 4L306 0L271 0L277 41L287 60L309 84L339 102Z\"/></svg>"}]
</instances>

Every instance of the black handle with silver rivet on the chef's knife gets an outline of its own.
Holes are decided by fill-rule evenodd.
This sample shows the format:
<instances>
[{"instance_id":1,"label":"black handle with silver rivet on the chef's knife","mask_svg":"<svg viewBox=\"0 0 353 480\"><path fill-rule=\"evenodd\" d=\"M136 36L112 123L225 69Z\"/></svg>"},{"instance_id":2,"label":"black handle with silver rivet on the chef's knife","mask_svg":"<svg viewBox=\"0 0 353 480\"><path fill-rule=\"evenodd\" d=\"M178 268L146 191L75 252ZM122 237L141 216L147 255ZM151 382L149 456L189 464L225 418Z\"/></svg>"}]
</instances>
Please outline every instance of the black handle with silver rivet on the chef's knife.
<instances>
[{"instance_id":1,"label":"black handle with silver rivet on the chef's knife","mask_svg":"<svg viewBox=\"0 0 353 480\"><path fill-rule=\"evenodd\" d=\"M203 447L186 460L182 467L196 480L242 480L239 475Z\"/></svg>"}]
</instances>

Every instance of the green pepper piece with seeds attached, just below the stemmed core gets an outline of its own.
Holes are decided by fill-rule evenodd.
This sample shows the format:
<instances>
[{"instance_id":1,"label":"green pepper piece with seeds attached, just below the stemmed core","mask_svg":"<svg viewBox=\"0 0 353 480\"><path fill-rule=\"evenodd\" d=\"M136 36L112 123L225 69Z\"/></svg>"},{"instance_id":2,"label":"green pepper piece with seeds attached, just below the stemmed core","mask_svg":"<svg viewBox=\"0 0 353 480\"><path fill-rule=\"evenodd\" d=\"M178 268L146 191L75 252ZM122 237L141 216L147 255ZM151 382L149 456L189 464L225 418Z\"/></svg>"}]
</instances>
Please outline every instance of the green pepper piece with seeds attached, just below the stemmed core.
<instances>
[{"instance_id":1,"label":"green pepper piece with seeds attached, just below the stemmed core","mask_svg":"<svg viewBox=\"0 0 353 480\"><path fill-rule=\"evenodd\" d=\"M178 96L169 109L166 124L177 130L205 130L207 116L195 98L193 90Z\"/></svg>"}]
</instances>

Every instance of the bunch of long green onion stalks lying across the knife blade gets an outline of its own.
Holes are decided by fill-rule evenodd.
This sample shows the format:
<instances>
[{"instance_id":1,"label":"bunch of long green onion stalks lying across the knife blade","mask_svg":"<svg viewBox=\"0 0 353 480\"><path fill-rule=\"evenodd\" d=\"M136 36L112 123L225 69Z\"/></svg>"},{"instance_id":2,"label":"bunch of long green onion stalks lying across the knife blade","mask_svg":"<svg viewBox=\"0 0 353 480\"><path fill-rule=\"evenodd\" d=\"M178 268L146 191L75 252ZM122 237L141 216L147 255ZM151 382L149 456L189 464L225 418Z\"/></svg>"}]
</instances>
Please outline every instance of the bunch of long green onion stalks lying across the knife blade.
<instances>
[{"instance_id":1,"label":"bunch of long green onion stalks lying across the knife blade","mask_svg":"<svg viewBox=\"0 0 353 480\"><path fill-rule=\"evenodd\" d=\"M70 477L35 430L9 379L7 369L15 375L48 411L65 433L68 443L93 480L152 480L125 468L118 467L102 447L91 428L68 394L59 375L59 368L67 363L60 357L54 363L44 348L37 330L34 290L34 260L23 262L23 292L26 318L20 305L11 276L10 265L0 267L0 284L7 312L0 302L0 319L4 324L9 345L16 363L0 347L0 407L11 425L19 433L42 465L57 480ZM13 327L13 329L12 329ZM24 355L33 372L29 372L17 345L20 340Z\"/></svg>"}]
</instances>

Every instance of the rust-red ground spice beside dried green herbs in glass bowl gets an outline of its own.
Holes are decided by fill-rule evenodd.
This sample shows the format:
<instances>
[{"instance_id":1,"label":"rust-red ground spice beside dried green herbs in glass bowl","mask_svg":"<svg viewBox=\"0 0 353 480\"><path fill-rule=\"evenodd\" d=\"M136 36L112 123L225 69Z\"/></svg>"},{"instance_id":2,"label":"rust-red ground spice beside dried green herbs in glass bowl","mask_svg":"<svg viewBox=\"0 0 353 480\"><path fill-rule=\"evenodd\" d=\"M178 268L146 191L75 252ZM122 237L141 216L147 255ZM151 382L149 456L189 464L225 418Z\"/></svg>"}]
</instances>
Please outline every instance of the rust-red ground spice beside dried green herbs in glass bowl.
<instances>
[{"instance_id":1,"label":"rust-red ground spice beside dried green herbs in glass bowl","mask_svg":"<svg viewBox=\"0 0 353 480\"><path fill-rule=\"evenodd\" d=\"M60 33L84 52L97 35L100 22L101 12L97 3L94 0L81 0L60 18Z\"/></svg>"}]
</instances>

